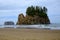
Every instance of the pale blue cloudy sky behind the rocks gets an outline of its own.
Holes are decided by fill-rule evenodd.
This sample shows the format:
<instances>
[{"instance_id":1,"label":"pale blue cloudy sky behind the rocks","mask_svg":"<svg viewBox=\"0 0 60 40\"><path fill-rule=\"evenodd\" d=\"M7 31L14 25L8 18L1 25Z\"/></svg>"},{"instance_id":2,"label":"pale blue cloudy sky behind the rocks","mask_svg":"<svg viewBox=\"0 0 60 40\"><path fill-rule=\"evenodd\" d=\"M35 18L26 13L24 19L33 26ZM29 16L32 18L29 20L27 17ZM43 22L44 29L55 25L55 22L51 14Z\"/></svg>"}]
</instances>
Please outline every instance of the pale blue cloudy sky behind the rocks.
<instances>
[{"instance_id":1,"label":"pale blue cloudy sky behind the rocks","mask_svg":"<svg viewBox=\"0 0 60 40\"><path fill-rule=\"evenodd\" d=\"M60 23L60 0L0 0L0 24L17 22L18 15L25 15L28 6L45 6L51 23Z\"/></svg>"}]
</instances>

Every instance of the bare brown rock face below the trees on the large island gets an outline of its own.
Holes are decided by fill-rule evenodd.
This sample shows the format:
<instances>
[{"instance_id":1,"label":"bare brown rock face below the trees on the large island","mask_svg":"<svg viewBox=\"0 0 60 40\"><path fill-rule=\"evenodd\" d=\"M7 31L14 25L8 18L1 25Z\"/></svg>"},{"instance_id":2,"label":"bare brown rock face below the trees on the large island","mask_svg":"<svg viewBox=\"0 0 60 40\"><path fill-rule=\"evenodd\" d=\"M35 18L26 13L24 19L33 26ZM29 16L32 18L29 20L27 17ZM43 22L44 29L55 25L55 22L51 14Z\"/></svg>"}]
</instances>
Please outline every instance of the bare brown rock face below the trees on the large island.
<instances>
[{"instance_id":1,"label":"bare brown rock face below the trees on the large island","mask_svg":"<svg viewBox=\"0 0 60 40\"><path fill-rule=\"evenodd\" d=\"M23 14L19 14L18 16L18 21L17 25L22 25L22 24L50 24L50 20L47 17L39 17L39 16L24 16Z\"/></svg>"}]
</instances>

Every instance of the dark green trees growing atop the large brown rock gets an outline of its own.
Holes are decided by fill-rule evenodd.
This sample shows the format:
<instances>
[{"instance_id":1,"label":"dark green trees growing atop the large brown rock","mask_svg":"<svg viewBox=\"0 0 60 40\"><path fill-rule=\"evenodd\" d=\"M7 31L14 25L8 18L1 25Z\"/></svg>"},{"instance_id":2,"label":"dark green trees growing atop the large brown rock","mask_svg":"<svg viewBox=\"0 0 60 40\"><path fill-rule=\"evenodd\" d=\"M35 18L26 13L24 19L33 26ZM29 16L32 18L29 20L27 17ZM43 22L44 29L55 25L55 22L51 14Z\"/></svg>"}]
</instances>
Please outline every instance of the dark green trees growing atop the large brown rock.
<instances>
[{"instance_id":1,"label":"dark green trees growing atop the large brown rock","mask_svg":"<svg viewBox=\"0 0 60 40\"><path fill-rule=\"evenodd\" d=\"M29 16L39 16L39 17L47 17L47 8L40 6L30 6L26 10L26 14Z\"/></svg>"}]
</instances>

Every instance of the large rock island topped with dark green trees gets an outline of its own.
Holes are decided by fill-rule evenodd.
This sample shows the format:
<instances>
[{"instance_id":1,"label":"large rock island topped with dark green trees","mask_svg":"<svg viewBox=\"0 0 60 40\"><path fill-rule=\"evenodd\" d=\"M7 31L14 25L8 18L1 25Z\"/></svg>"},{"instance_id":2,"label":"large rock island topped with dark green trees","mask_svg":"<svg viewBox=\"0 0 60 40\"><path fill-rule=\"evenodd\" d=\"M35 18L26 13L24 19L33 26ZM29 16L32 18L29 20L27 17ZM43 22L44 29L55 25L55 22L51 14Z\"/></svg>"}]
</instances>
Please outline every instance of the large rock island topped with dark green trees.
<instances>
[{"instance_id":1,"label":"large rock island topped with dark green trees","mask_svg":"<svg viewBox=\"0 0 60 40\"><path fill-rule=\"evenodd\" d=\"M19 14L17 25L22 24L50 24L50 20L47 16L47 8L45 7L28 7L26 16L23 13Z\"/></svg>"}]
</instances>

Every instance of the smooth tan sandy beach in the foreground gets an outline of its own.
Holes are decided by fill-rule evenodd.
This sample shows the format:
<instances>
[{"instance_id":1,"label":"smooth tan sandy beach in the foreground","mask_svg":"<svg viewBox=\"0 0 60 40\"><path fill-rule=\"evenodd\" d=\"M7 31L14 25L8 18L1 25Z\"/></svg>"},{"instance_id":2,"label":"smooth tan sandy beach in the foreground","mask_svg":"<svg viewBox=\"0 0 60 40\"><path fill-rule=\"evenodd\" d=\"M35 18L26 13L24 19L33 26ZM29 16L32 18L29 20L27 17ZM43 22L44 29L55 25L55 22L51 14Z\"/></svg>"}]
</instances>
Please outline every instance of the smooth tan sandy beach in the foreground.
<instances>
[{"instance_id":1,"label":"smooth tan sandy beach in the foreground","mask_svg":"<svg viewBox=\"0 0 60 40\"><path fill-rule=\"evenodd\" d=\"M60 30L0 28L0 40L60 40Z\"/></svg>"}]
</instances>

